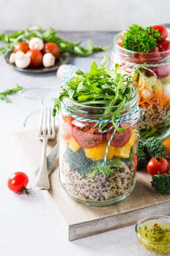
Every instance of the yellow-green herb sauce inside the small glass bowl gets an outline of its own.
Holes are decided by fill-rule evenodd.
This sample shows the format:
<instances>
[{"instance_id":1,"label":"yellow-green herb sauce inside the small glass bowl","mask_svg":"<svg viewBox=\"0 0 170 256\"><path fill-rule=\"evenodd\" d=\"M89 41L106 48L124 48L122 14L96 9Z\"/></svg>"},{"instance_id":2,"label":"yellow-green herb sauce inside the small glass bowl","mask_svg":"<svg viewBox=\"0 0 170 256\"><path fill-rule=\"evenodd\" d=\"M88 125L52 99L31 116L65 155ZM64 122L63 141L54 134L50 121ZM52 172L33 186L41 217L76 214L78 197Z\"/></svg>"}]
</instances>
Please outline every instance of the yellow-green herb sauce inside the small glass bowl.
<instances>
[{"instance_id":1,"label":"yellow-green herb sauce inside the small glass bowl","mask_svg":"<svg viewBox=\"0 0 170 256\"><path fill-rule=\"evenodd\" d=\"M139 238L140 242L150 251L161 253L170 251L170 222L145 222L139 227L138 233L146 241Z\"/></svg>"}]
</instances>

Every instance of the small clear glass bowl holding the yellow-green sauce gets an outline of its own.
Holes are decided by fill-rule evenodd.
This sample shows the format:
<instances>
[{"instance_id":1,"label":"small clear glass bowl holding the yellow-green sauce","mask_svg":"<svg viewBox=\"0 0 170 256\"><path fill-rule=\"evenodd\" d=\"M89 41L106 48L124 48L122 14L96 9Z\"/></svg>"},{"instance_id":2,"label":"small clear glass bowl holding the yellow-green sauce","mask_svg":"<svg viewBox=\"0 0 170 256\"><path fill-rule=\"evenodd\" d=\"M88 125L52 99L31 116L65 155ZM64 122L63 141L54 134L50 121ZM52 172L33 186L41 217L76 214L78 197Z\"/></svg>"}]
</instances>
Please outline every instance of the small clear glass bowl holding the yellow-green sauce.
<instances>
[{"instance_id":1,"label":"small clear glass bowl holding the yellow-green sauce","mask_svg":"<svg viewBox=\"0 0 170 256\"><path fill-rule=\"evenodd\" d=\"M137 222L135 226L136 236L140 244L142 244L142 246L144 246L151 252L169 255L170 242L169 244L155 244L142 237L141 234L139 233L139 227L142 227L144 224L148 225L154 222L158 224L168 222L170 224L170 217L164 215L150 215L148 217L144 217L143 219L139 219L139 222Z\"/></svg>"}]
</instances>

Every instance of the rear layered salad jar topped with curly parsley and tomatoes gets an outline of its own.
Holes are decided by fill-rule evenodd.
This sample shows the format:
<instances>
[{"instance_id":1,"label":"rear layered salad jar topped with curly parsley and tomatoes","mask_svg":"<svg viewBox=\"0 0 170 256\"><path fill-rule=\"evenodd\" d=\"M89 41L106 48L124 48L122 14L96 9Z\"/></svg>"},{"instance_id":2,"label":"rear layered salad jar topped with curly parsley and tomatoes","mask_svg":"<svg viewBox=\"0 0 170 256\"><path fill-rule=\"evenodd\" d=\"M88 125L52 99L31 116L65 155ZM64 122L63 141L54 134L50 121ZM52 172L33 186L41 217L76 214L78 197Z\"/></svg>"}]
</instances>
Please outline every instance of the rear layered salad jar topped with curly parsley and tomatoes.
<instances>
[{"instance_id":1,"label":"rear layered salad jar topped with curly parsley and tomatoes","mask_svg":"<svg viewBox=\"0 0 170 256\"><path fill-rule=\"evenodd\" d=\"M170 134L170 35L161 25L146 28L134 24L115 37L111 63L119 63L125 73L134 74L142 138ZM139 72L134 73L136 67Z\"/></svg>"}]
</instances>

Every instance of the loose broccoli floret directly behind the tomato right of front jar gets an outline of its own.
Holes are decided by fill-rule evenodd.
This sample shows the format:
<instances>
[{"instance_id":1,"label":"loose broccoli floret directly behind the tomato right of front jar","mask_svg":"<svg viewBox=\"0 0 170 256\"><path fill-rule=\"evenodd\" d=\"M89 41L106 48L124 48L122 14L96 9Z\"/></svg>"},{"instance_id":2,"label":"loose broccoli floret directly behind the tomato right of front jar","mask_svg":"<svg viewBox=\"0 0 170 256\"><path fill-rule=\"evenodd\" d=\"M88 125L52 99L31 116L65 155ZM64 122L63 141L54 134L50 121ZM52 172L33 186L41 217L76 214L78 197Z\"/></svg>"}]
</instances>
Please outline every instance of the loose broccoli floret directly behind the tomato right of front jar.
<instances>
[{"instance_id":1,"label":"loose broccoli floret directly behind the tomato right of front jar","mask_svg":"<svg viewBox=\"0 0 170 256\"><path fill-rule=\"evenodd\" d=\"M147 160L155 157L157 160L167 157L167 149L158 138L150 137L144 141Z\"/></svg>"}]
</instances>

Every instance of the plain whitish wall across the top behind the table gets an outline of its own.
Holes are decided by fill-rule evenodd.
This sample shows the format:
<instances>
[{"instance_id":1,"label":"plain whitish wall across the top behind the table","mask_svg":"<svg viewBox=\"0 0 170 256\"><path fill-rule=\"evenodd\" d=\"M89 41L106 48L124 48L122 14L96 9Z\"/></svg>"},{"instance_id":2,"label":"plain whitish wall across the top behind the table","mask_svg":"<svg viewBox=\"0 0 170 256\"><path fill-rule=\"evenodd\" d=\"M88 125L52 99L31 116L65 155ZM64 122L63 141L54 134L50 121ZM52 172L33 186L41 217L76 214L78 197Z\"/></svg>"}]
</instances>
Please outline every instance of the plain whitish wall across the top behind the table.
<instances>
[{"instance_id":1,"label":"plain whitish wall across the top behind the table","mask_svg":"<svg viewBox=\"0 0 170 256\"><path fill-rule=\"evenodd\" d=\"M0 0L0 30L28 25L61 31L117 31L169 23L169 0Z\"/></svg>"}]
</instances>

